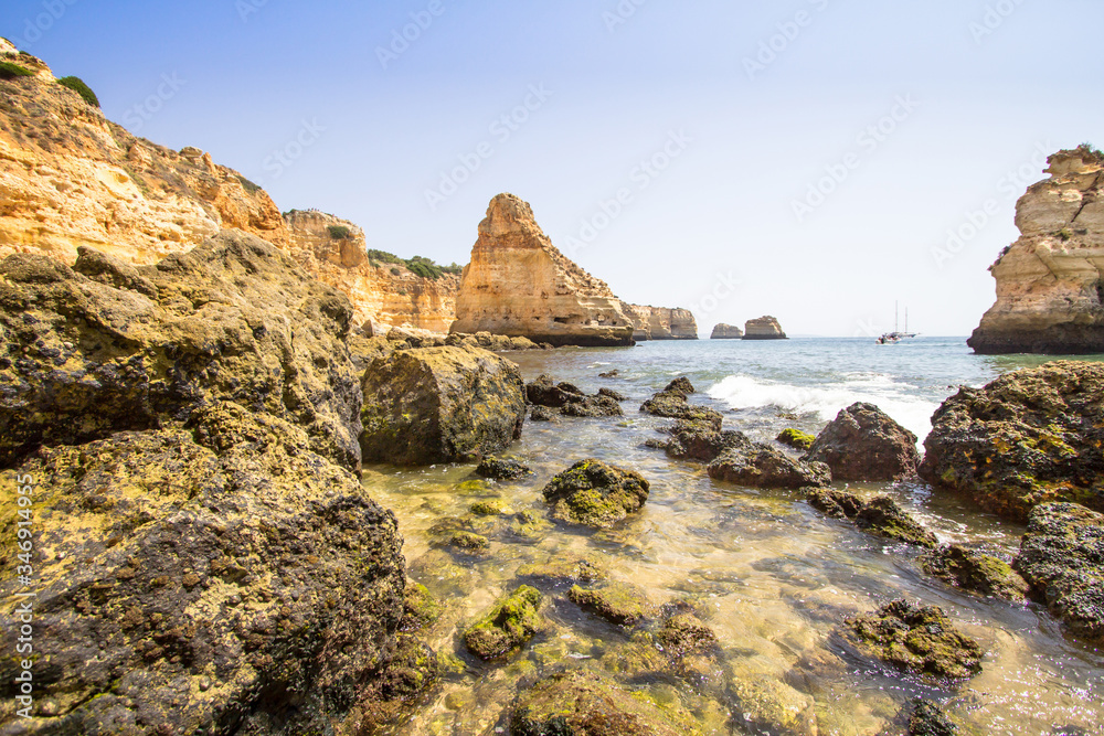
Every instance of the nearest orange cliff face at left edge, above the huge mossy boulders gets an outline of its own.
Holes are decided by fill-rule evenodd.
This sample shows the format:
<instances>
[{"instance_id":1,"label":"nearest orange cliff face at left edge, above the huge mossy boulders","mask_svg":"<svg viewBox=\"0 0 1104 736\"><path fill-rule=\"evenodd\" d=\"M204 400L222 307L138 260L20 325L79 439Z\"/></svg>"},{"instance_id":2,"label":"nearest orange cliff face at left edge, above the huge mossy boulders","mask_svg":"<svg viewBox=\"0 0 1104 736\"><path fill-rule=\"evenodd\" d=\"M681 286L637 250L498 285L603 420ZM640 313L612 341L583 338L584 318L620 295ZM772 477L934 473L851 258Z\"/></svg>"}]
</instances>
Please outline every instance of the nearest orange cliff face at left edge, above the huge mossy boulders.
<instances>
[{"instance_id":1,"label":"nearest orange cliff face at left edge, above the huge mossy boulders","mask_svg":"<svg viewBox=\"0 0 1104 736\"><path fill-rule=\"evenodd\" d=\"M287 245L276 205L237 172L136 138L8 44L0 61L38 72L0 81L0 257L73 264L87 245L145 265L222 228Z\"/></svg>"}]
</instances>

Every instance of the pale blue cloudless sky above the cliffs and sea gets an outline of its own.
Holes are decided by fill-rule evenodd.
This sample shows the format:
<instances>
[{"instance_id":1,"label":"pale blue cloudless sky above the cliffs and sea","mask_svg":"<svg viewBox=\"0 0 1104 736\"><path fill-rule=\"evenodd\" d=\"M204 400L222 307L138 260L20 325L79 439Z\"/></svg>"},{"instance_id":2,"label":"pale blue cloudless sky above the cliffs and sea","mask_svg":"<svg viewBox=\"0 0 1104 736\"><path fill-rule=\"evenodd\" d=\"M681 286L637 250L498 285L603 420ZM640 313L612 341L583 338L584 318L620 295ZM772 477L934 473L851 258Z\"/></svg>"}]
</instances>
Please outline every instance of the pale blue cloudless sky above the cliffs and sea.
<instances>
[{"instance_id":1,"label":"pale blue cloudless sky above the cliffs and sea","mask_svg":"<svg viewBox=\"0 0 1104 736\"><path fill-rule=\"evenodd\" d=\"M1098 0L7 0L0 35L284 211L467 263L512 192L702 337L967 335L1045 157L1104 146Z\"/></svg>"}]
</instances>

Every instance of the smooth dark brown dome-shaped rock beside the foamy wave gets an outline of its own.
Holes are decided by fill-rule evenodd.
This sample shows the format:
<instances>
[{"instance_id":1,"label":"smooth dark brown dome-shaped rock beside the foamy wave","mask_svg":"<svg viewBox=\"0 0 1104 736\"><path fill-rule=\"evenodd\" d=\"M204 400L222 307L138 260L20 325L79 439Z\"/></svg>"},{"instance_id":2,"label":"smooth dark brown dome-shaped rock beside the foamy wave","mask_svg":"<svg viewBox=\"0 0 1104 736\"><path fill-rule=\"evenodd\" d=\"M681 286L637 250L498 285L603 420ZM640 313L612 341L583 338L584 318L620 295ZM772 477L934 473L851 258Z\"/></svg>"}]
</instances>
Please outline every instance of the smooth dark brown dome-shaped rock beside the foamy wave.
<instances>
[{"instance_id":1,"label":"smooth dark brown dome-shaped rock beside the foamy wave","mask_svg":"<svg viewBox=\"0 0 1104 736\"><path fill-rule=\"evenodd\" d=\"M835 480L895 480L916 473L916 436L873 404L842 409L817 436L806 458L831 468Z\"/></svg>"}]
</instances>

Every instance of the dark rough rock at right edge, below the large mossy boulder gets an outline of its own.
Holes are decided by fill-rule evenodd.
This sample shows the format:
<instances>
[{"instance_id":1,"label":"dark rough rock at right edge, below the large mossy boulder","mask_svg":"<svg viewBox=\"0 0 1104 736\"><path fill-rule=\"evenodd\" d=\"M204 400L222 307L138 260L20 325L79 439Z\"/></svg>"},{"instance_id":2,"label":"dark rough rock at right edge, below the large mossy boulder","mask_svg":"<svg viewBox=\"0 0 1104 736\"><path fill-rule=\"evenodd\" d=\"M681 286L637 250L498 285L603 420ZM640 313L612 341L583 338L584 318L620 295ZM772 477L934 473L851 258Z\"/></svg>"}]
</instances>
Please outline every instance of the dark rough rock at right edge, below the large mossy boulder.
<instances>
[{"instance_id":1,"label":"dark rough rock at right edge, below the large mossy boulder","mask_svg":"<svg viewBox=\"0 0 1104 736\"><path fill-rule=\"evenodd\" d=\"M1036 506L1013 567L1074 636L1104 641L1104 514L1075 503Z\"/></svg>"}]
</instances>

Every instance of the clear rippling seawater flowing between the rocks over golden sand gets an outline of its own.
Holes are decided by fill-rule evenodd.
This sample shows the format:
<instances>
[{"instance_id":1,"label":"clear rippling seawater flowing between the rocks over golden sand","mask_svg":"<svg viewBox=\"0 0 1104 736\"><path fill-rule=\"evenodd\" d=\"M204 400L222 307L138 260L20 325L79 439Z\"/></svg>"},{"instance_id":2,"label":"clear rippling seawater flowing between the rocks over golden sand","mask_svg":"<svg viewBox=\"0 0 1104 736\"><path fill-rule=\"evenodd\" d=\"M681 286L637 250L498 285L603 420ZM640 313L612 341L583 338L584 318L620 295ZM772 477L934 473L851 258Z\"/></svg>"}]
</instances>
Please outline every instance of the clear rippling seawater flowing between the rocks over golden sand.
<instances>
[{"instance_id":1,"label":"clear rippling seawater flowing between the rocks over golden sand","mask_svg":"<svg viewBox=\"0 0 1104 736\"><path fill-rule=\"evenodd\" d=\"M518 687L550 668L577 661L619 669L616 652L629 632L582 612L564 590L545 596L548 628L506 663L479 662L464 649L459 632L518 585L520 565L566 553L601 561L613 579L643 588L652 604L690 597L708 611L707 623L720 639L732 676L785 682L798 697L811 698L821 735L873 736L915 695L946 703L986 734L1051 734L1058 727L1101 733L1104 654L1065 638L1042 608L958 593L924 576L914 548L826 519L796 492L713 481L701 465L645 448L644 440L659 437L658 429L670 420L637 412L670 378L689 375L701 392L693 402L721 410L740 406L725 414L725 428L757 439L773 438L786 426L817 431L853 401L879 404L923 437L926 417L957 385L981 385L1041 360L977 358L960 340L890 346L857 340L702 341L509 358L522 366L527 381L548 372L587 393L616 388L629 396L623 404L626 416L527 423L523 438L505 455L535 473L517 482L476 480L470 465L368 469L365 487L399 518L411 577L446 604L429 642L463 662L463 671L445 678L395 733L502 733ZM612 369L620 376L597 377ZM491 541L487 554L433 546L435 523L464 516L482 499L502 499L511 512L543 515L544 483L587 457L636 470L651 482L648 503L618 529L593 533L556 525L526 537L511 529L508 515L476 522L475 531ZM1023 531L919 481L858 490L889 493L945 542L984 541L1011 555ZM942 606L988 652L984 672L958 690L944 691L854 657L832 637L847 616L898 597ZM829 652L845 666L824 665ZM754 733L743 714L733 712L737 702L720 687L720 672L715 679L694 685L660 679L634 682L634 687L661 703L680 702L708 734Z\"/></svg>"}]
</instances>

